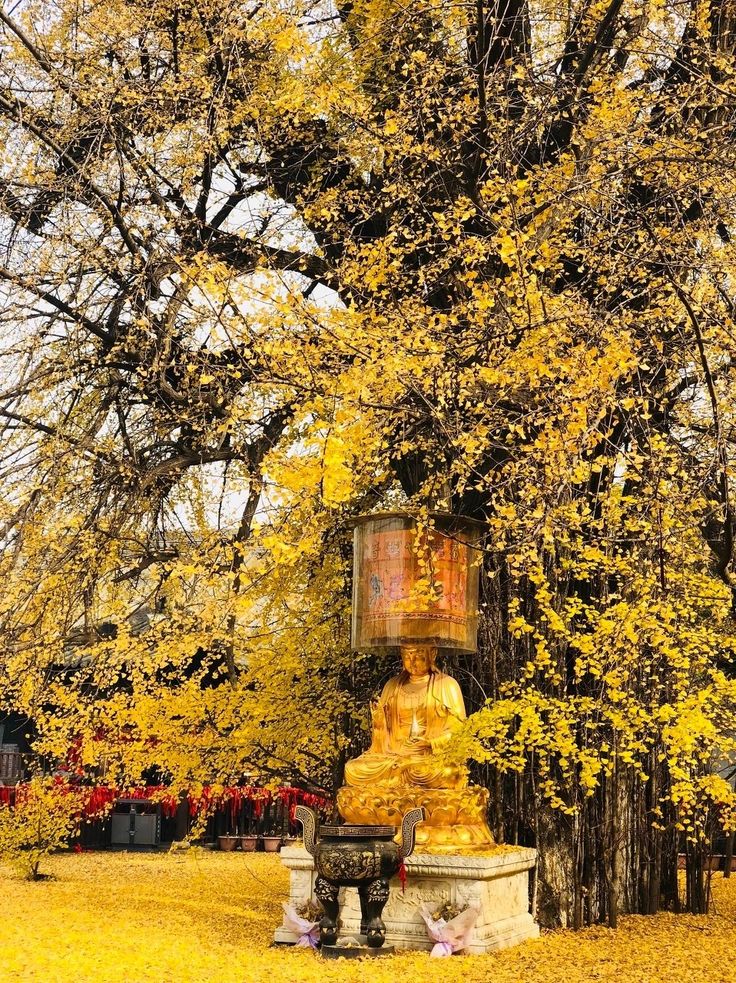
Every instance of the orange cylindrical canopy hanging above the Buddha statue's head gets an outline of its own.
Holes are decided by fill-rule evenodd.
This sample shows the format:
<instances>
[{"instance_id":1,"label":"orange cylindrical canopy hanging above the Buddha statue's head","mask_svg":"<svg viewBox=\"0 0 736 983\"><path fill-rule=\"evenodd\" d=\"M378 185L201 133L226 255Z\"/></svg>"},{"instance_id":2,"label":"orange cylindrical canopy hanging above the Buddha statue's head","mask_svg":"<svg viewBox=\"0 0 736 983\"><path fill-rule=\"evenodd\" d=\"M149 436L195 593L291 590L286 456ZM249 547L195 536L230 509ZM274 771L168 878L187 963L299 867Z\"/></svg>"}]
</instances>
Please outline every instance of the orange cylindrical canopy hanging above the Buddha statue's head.
<instances>
[{"instance_id":1,"label":"orange cylindrical canopy hanging above the Buddha statue's head","mask_svg":"<svg viewBox=\"0 0 736 983\"><path fill-rule=\"evenodd\" d=\"M432 513L357 520L353 648L432 645L474 652L483 523Z\"/></svg>"}]
</instances>

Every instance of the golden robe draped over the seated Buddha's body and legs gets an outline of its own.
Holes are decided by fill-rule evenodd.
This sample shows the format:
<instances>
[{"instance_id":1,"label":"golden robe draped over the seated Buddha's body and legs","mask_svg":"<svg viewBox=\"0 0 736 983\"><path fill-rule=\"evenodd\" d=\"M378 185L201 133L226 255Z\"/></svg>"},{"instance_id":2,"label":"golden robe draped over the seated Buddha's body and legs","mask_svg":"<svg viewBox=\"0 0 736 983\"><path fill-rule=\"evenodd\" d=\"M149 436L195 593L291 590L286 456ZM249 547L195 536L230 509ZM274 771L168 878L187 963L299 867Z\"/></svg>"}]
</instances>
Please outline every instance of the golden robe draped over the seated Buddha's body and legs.
<instances>
[{"instance_id":1,"label":"golden robe draped over the seated Buddha's body and legs","mask_svg":"<svg viewBox=\"0 0 736 983\"><path fill-rule=\"evenodd\" d=\"M377 710L370 748L345 765L347 785L467 784L465 769L446 764L438 754L466 717L463 695L452 676L435 670L422 688L402 672L384 686ZM429 747L412 746L412 737L423 738Z\"/></svg>"}]
</instances>

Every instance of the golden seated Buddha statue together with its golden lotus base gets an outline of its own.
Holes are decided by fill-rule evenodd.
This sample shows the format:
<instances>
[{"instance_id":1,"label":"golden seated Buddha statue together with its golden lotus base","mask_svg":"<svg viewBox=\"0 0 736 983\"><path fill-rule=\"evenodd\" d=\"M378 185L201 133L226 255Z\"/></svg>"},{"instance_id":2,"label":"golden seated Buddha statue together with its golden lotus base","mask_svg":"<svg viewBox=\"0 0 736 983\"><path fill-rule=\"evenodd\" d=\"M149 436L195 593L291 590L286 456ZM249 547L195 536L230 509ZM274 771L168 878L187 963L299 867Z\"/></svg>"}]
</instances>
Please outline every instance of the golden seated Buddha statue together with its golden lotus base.
<instances>
[{"instance_id":1,"label":"golden seated Buddha statue together with its golden lotus base","mask_svg":"<svg viewBox=\"0 0 736 983\"><path fill-rule=\"evenodd\" d=\"M437 668L436 657L429 645L402 646L403 672L371 709L371 745L346 764L338 809L347 822L383 826L399 825L408 809L423 806L420 849L488 849L488 792L470 787L467 768L442 755L466 713L457 681Z\"/></svg>"}]
</instances>

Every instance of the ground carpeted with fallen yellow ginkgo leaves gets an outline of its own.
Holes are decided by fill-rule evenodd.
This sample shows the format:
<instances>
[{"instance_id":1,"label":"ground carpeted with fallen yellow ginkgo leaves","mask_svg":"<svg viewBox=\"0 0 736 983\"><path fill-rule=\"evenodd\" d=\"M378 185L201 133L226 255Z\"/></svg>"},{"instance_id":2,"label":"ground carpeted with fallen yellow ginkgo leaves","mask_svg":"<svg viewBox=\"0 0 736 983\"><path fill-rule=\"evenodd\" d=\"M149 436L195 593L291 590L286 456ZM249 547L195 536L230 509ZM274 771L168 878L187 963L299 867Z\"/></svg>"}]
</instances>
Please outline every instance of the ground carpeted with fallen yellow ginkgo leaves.
<instances>
[{"instance_id":1,"label":"ground carpeted with fallen yellow ginkgo leaves","mask_svg":"<svg viewBox=\"0 0 736 983\"><path fill-rule=\"evenodd\" d=\"M708 917L629 917L618 932L555 932L491 956L424 953L322 962L269 948L287 880L265 854L54 857L57 880L0 871L0 980L217 983L734 983L736 879L714 880Z\"/></svg>"}]
</instances>

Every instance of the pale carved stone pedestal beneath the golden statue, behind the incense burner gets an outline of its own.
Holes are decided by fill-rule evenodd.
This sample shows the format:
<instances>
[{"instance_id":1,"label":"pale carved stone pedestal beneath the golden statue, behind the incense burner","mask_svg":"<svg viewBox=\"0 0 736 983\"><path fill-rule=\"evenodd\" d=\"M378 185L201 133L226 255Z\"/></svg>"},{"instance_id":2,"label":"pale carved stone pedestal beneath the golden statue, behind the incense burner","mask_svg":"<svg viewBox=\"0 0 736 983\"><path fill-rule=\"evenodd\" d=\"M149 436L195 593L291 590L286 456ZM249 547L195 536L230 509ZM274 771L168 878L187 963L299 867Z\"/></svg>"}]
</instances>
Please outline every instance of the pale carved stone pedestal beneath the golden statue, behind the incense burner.
<instances>
[{"instance_id":1,"label":"pale carved stone pedestal beneath the golden statue, behind the incense burner","mask_svg":"<svg viewBox=\"0 0 736 983\"><path fill-rule=\"evenodd\" d=\"M500 848L491 856L433 856L414 854L406 861L406 891L402 894L398 877L391 881L391 894L383 911L386 944L397 949L432 948L427 929L419 914L426 902L437 906L449 901L464 908L477 905L480 915L475 923L470 953L505 949L539 935L539 927L529 914L529 870L534 866L536 851L524 848ZM311 856L303 847L284 847L281 861L291 871L289 901L298 905L314 897L316 873ZM354 888L341 892L343 922L341 935L357 935L360 930L360 903ZM296 942L297 938L281 927L276 942Z\"/></svg>"}]
</instances>

